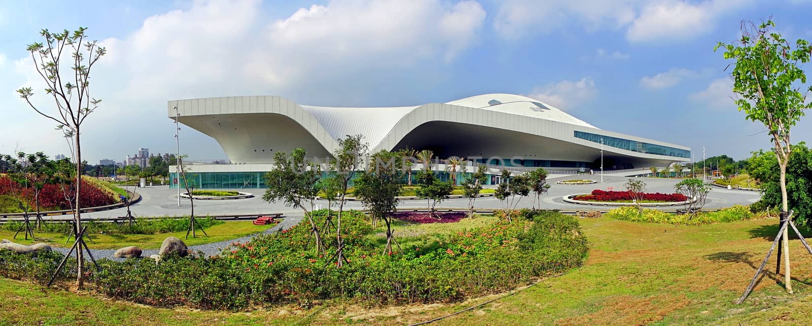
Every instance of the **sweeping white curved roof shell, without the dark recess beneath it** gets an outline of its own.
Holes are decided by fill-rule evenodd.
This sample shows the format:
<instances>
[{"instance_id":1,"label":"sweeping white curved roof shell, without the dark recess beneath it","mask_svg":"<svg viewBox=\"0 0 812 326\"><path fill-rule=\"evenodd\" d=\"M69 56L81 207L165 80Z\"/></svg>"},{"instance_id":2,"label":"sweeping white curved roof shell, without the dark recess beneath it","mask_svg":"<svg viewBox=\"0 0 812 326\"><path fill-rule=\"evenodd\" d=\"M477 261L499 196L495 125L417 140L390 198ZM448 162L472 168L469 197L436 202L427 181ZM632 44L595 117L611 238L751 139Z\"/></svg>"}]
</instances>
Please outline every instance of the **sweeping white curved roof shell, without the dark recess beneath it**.
<instances>
[{"instance_id":1,"label":"sweeping white curved roof shell, without the dark recess beneath it","mask_svg":"<svg viewBox=\"0 0 812 326\"><path fill-rule=\"evenodd\" d=\"M595 137L607 137L607 152L628 157L689 161L673 154L649 152L645 146L690 150L676 144L603 131L555 106L512 94L485 94L447 103L380 108L300 105L284 97L271 96L211 97L168 101L167 116L175 118L175 114L179 114L180 122L217 139L232 162L246 163L270 163L274 152L293 148L308 148L313 155L329 156L338 148L337 140L347 135L363 135L371 152L401 148L404 146L401 142L409 135L419 134L432 142L462 144L469 139L482 142L477 136L484 135L487 139L497 131L515 132L516 140L524 143L511 152L521 152L526 157L545 157L559 151L561 154L555 159L563 159L561 157L575 155L572 148L599 152L602 147ZM412 133L423 126L473 129L453 135L430 130ZM542 144L539 139L555 139L558 143ZM611 148L611 139L619 145ZM630 147L632 143L628 142L636 143L638 148ZM494 146L508 148L512 143L499 140Z\"/></svg>"}]
</instances>

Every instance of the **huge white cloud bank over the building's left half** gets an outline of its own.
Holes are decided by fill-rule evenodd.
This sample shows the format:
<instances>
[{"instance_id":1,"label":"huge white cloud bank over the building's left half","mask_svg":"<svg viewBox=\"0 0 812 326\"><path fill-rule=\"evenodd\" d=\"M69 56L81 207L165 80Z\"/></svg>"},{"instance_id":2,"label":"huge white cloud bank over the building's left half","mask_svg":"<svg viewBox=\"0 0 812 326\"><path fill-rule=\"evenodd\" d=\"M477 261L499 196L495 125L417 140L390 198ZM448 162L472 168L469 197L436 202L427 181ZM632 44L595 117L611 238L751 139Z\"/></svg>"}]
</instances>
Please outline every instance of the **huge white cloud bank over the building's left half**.
<instances>
[{"instance_id":1,"label":"huge white cloud bank over the building's left half","mask_svg":"<svg viewBox=\"0 0 812 326\"><path fill-rule=\"evenodd\" d=\"M91 95L104 101L86 121L93 125L84 130L89 155L120 160L139 147L174 149L175 132L166 118L166 101L174 99L279 95L304 104L368 104L382 97L378 85L414 84L403 75L427 80L442 75L449 62L477 43L486 12L475 1L332 1L284 19L263 15L257 0L196 1L145 19L129 35L102 39L108 54L94 66L90 82ZM88 32L106 35L93 28ZM45 101L31 59L15 66L15 87L30 85L37 92L34 100ZM421 87L431 85L415 86ZM12 101L20 105L16 96ZM32 111L28 116L44 122ZM52 140L53 126L39 125L41 130L28 131ZM110 148L109 135L120 135L123 126L139 127L139 136L117 139L127 149ZM184 151L214 152L207 154L214 157L193 158L222 158L212 151L219 148L214 140L188 128L181 132L187 133ZM0 139L0 146L15 141ZM50 149L63 144L34 143L31 139L26 146L65 152Z\"/></svg>"}]
</instances>

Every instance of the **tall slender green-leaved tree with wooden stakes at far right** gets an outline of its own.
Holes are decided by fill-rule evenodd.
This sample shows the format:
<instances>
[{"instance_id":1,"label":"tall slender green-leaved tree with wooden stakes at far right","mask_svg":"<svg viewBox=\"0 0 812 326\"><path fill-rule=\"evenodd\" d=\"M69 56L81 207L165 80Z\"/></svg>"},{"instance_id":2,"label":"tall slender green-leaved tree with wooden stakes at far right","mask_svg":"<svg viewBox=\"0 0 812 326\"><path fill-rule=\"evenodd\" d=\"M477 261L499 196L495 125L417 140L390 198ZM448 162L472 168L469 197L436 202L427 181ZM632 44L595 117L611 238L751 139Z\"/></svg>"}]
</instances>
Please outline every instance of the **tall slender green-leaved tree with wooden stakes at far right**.
<instances>
[{"instance_id":1,"label":"tall slender green-leaved tree with wooden stakes at far right","mask_svg":"<svg viewBox=\"0 0 812 326\"><path fill-rule=\"evenodd\" d=\"M804 115L804 110L812 107L806 103L806 92L812 87L806 84L806 73L801 67L810 61L812 46L806 40L797 40L793 46L777 32L772 32L775 23L768 20L760 24L742 24L741 39L732 44L719 42L714 48L723 49L725 59L732 59L733 92L739 111L745 118L762 122L775 145L775 155L780 168L781 211L786 216L788 210L787 165L792 153L789 131ZM801 91L801 88L806 88ZM784 285L788 293L793 293L789 268L788 230L782 235L784 248Z\"/></svg>"}]
</instances>

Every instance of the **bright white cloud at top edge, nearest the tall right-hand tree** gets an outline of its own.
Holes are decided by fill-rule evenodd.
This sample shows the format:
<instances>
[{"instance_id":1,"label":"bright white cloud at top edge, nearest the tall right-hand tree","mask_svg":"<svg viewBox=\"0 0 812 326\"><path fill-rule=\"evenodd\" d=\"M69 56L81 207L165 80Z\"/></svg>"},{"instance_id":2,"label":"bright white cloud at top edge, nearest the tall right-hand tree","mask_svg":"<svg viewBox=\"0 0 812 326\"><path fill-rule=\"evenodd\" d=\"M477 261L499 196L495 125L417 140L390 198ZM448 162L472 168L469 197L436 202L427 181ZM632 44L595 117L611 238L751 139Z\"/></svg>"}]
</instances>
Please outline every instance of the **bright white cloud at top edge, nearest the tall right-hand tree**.
<instances>
[{"instance_id":1,"label":"bright white cloud at top edge, nearest the tall right-hand tree","mask_svg":"<svg viewBox=\"0 0 812 326\"><path fill-rule=\"evenodd\" d=\"M649 2L629 25L626 39L631 42L682 41L711 32L715 19L749 1L707 0L692 3L680 0Z\"/></svg>"}]
</instances>

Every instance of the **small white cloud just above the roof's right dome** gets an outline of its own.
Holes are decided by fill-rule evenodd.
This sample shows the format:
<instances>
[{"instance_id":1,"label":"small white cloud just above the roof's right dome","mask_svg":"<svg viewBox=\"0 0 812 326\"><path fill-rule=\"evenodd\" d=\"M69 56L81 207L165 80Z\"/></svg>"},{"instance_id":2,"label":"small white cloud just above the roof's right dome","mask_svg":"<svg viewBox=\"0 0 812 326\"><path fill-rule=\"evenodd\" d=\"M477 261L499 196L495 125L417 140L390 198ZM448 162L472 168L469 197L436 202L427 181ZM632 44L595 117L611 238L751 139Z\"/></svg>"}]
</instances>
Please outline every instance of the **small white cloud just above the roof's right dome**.
<instances>
[{"instance_id":1,"label":"small white cloud just above the roof's right dome","mask_svg":"<svg viewBox=\"0 0 812 326\"><path fill-rule=\"evenodd\" d=\"M538 101L549 103L559 109L573 109L578 105L591 101L598 94L592 77L581 80L564 80L555 84L546 84L533 88L527 94Z\"/></svg>"}]
</instances>

